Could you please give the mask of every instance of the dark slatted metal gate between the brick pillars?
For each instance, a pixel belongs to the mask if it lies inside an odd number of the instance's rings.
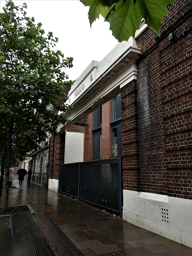
[[[61,164],[59,192],[101,206],[122,218],[122,160]]]

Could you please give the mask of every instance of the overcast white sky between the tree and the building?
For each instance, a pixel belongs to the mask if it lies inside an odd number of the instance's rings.
[[[27,4],[27,16],[41,22],[46,34],[58,37],[58,50],[65,57],[73,57],[73,68],[65,72],[71,80],[82,74],[92,60],[101,61],[118,41],[109,30],[109,23],[101,16],[92,28],[88,20],[88,6],[79,0],[14,0],[15,5]],[[0,0],[0,11],[6,1]]]

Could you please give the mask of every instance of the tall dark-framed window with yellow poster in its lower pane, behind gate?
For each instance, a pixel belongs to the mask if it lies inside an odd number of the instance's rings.
[[[112,99],[112,156],[122,155],[121,94]]]

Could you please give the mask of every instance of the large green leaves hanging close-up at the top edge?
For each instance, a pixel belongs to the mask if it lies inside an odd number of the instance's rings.
[[[128,41],[139,29],[142,18],[160,35],[160,23],[167,15],[166,6],[174,0],[80,0],[90,6],[90,25],[101,14],[110,23],[110,30],[119,42]]]

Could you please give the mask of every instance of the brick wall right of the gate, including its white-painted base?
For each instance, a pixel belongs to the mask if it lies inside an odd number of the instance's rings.
[[[137,80],[122,88],[123,218],[191,247],[191,2],[176,1],[160,37],[136,37]],[[173,33],[173,40],[169,35]]]

